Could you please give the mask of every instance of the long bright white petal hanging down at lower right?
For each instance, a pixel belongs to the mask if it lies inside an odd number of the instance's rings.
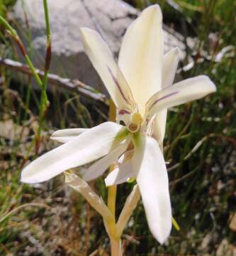
[[[135,144],[133,164],[145,207],[147,223],[154,238],[163,243],[172,229],[167,168],[162,151],[152,137],[142,137]]]

